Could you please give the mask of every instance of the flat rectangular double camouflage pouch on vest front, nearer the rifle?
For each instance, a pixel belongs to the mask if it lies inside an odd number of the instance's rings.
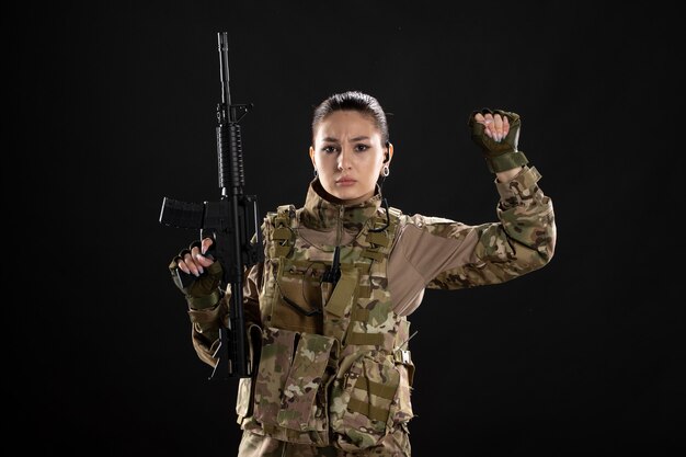
[[[255,379],[254,418],[266,435],[294,443],[328,442],[327,367],[335,339],[267,328]],[[333,352],[333,354],[332,354]]]

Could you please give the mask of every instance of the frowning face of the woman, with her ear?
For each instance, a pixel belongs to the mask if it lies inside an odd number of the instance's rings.
[[[384,167],[386,147],[374,119],[356,111],[335,111],[317,126],[310,159],[322,187],[355,204],[370,198]],[[388,162],[393,155],[388,148]]]

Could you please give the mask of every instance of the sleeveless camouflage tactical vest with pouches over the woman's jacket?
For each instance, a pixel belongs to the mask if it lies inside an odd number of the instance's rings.
[[[262,342],[254,378],[239,386],[243,429],[357,450],[412,419],[410,323],[392,310],[386,275],[400,216],[378,209],[340,248],[335,287],[322,281],[335,247],[298,236],[294,205],[264,219]]]

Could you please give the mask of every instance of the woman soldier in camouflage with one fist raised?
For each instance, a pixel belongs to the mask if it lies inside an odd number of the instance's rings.
[[[496,221],[472,226],[386,204],[393,146],[374,96],[350,91],[317,106],[305,205],[267,214],[265,259],[244,275],[248,333],[260,336],[256,369],[239,385],[239,456],[410,456],[408,317],[424,289],[504,283],[553,255],[552,202],[517,150],[519,124],[502,110],[469,117],[500,194]],[[193,242],[170,270],[196,277],[182,287],[193,345],[215,366],[230,287],[219,288],[211,243]]]

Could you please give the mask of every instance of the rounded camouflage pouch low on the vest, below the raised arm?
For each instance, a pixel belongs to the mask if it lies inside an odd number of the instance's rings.
[[[375,446],[393,430],[400,379],[392,357],[378,351],[364,353],[334,379],[329,412],[341,448]]]

